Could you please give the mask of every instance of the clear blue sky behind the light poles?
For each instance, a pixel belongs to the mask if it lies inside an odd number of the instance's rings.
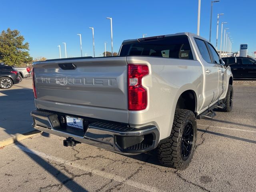
[[[208,39],[211,0],[201,0],[200,36]],[[216,45],[217,14],[234,40],[233,51],[240,44],[248,44],[248,54],[256,51],[255,0],[220,0],[214,3],[212,44]],[[0,31],[17,29],[30,44],[30,54],[36,58],[58,58],[58,45],[64,57],[80,56],[82,34],[83,56],[93,55],[92,30],[94,27],[96,56],[111,51],[110,20],[113,18],[114,51],[118,52],[123,40],[141,38],[142,34],[156,36],[177,32],[197,32],[198,0],[2,0]],[[218,49],[220,48],[220,26]]]

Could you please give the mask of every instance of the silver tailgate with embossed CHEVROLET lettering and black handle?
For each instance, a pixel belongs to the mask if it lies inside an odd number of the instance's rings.
[[[126,57],[54,60],[33,67],[37,108],[128,123]]]

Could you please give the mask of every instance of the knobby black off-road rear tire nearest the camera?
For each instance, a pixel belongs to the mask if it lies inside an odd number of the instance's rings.
[[[190,145],[190,152],[186,157],[182,156],[182,143],[184,141],[184,130],[187,130],[186,126],[192,125],[192,139]],[[178,170],[184,170],[188,167],[192,160],[194,150],[196,148],[196,117],[190,110],[176,109],[174,120],[172,124],[171,135],[161,140],[156,148],[159,162],[167,167],[172,167]]]

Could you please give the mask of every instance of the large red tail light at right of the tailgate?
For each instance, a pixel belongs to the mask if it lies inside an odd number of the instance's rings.
[[[148,75],[147,65],[128,64],[128,109],[144,110],[148,104],[147,90],[142,86],[142,78]]]

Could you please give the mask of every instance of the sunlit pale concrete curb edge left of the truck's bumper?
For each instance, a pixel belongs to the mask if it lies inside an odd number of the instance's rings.
[[[21,140],[27,139],[29,137],[38,135],[40,133],[41,133],[41,131],[34,130],[34,131],[30,131],[30,132],[27,132],[27,133],[24,133],[24,134],[20,134],[20,135],[17,135],[17,136],[8,138],[8,139],[1,140],[0,141],[0,148],[5,147],[5,146],[10,145],[10,144],[13,144],[17,141],[21,141]]]

